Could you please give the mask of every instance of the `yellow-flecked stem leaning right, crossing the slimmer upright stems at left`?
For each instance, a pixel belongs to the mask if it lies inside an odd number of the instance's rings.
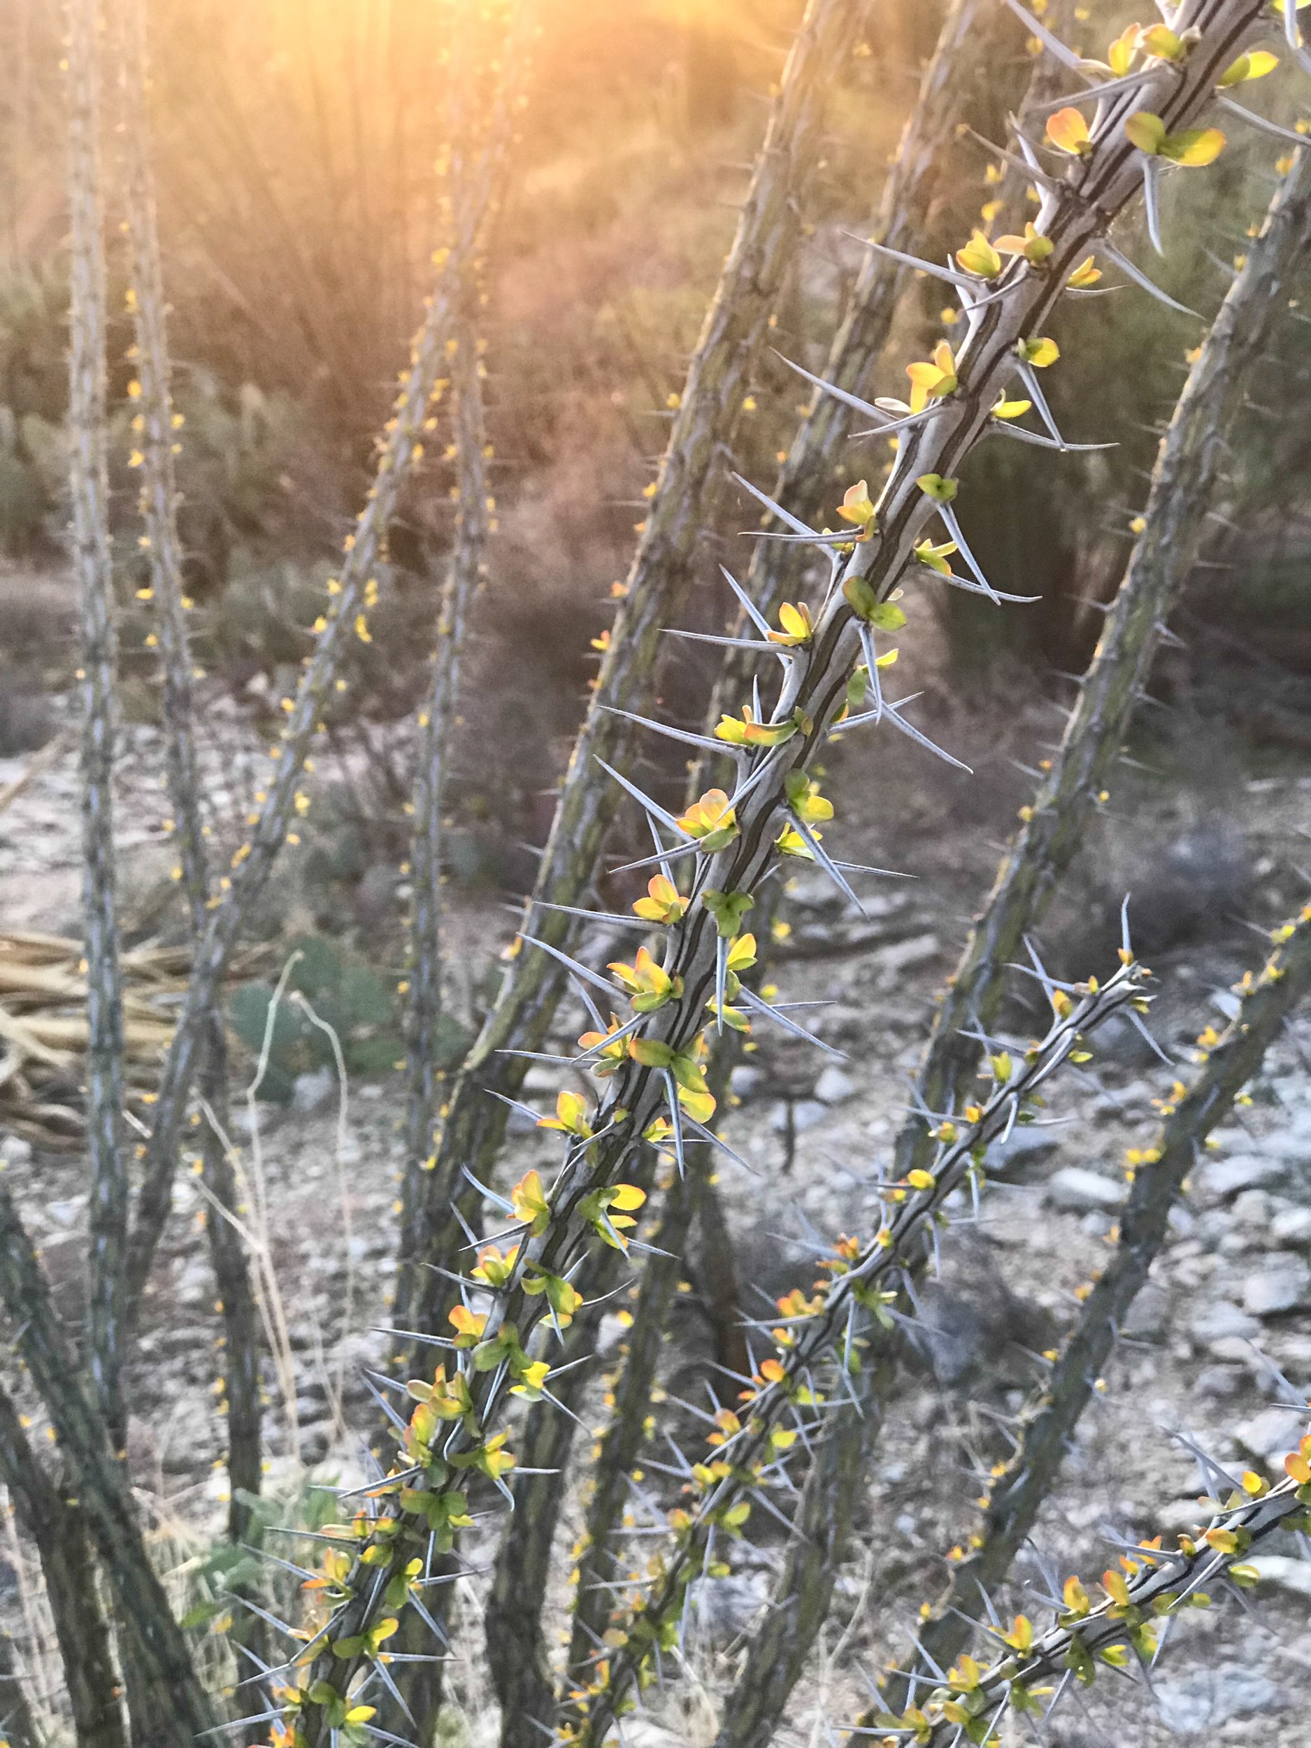
[[[316,643],[294,699],[287,699],[287,724],[276,746],[266,799],[246,843],[232,855],[231,874],[218,881],[220,900],[210,918],[205,947],[187,989],[161,1075],[154,1127],[147,1147],[145,1178],[136,1199],[128,1246],[128,1304],[140,1302],[159,1236],[168,1220],[177,1166],[178,1131],[196,1073],[196,1056],[205,1016],[213,1010],[218,984],[241,932],[248,904],[273,872],[294,822],[306,806],[304,760],[320,732],[320,717],[334,694],[341,656],[350,638],[367,638],[367,608],[378,591],[374,570],[386,559],[386,531],[413,465],[423,456],[432,399],[447,362],[446,341],[463,264],[479,245],[482,218],[498,185],[500,161],[510,133],[512,96],[503,94],[488,126],[486,145],[470,170],[467,201],[449,245],[437,250],[437,283],[427,302],[423,325],[414,337],[409,367],[402,372],[393,414],[378,449],[374,484],[355,530],[344,540],[341,575],[329,582],[325,612],[316,622]]]

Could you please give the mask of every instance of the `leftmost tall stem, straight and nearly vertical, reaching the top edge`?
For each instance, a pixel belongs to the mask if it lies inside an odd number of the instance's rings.
[[[105,456],[105,239],[100,184],[100,5],[68,5],[68,484],[82,598],[82,912],[87,960],[91,1376],[122,1444],[122,972],[114,886],[114,573]]]

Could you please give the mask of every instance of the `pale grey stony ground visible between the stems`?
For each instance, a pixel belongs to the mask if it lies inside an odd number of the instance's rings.
[[[157,745],[152,731],[135,734],[122,766],[128,841],[147,858],[142,867],[154,858],[164,893],[156,926],[168,928]],[[14,773],[21,766],[16,760]],[[0,767],[0,785],[14,773]],[[252,738],[248,766],[227,759],[213,771],[217,811],[236,815],[257,781]],[[933,781],[916,769],[923,818],[914,829],[890,827],[888,816],[905,818],[897,795],[888,808],[881,790],[876,809],[862,767],[846,762],[832,781],[850,830],[844,848],[879,864],[895,855],[921,877],[874,883],[864,918],[811,877],[790,897],[792,933],[774,981],[787,1000],[823,1003],[806,1021],[846,1059],[762,1037],[734,1073],[725,1133],[750,1169],[725,1162],[720,1192],[752,1285],[746,1309],[808,1283],[815,1250],[874,1217],[876,1171],[902,1117],[933,991],[963,939],[963,914],[986,884],[989,839],[1005,834],[1028,785],[1002,753],[982,773],[982,806],[961,808],[947,788],[935,802]],[[75,923],[73,783],[72,757],[56,760],[0,815],[0,909],[10,926]],[[1302,891],[1299,848],[1309,822],[1311,788],[1297,773],[1245,773],[1224,818],[1201,785],[1166,792],[1143,780],[1126,788],[1094,836],[1047,930],[1047,951],[1063,968],[1079,958],[1077,970],[1096,970],[1108,954],[1117,895],[1134,884],[1162,991],[1154,1031],[1173,1065],[1187,1065],[1196,1033],[1232,1012],[1229,986],[1260,960],[1264,928]],[[149,905],[138,921],[149,933]],[[456,898],[453,935],[463,960],[489,961],[509,926],[498,902]],[[614,956],[600,939],[596,956]],[[470,974],[463,988],[475,981]],[[1017,1003],[1003,1024],[1024,1037],[1031,1021]],[[561,1040],[566,1035],[561,1028]],[[867,1699],[867,1680],[909,1647],[919,1601],[940,1589],[947,1550],[972,1528],[974,1475],[1007,1453],[1007,1418],[1035,1388],[1031,1355],[1059,1337],[1077,1311],[1075,1288],[1105,1257],[1124,1154],[1152,1134],[1152,1101],[1176,1072],[1185,1068],[1157,1061],[1127,1028],[1105,1035],[1089,1070],[1059,1082],[1044,1124],[998,1152],[981,1218],[961,1218],[947,1234],[823,1654],[795,1697],[787,1741],[827,1741],[825,1720],[850,1722]],[[558,1086],[558,1077],[533,1072],[528,1098],[545,1108]],[[1061,1577],[1092,1578],[1108,1563],[1106,1530],[1136,1538],[1196,1523],[1206,1488],[1176,1432],[1231,1468],[1274,1472],[1304,1428],[1295,1404],[1311,1390],[1311,1014],[1287,1030],[1250,1091],[1253,1103],[1199,1159],[1171,1243],[1073,1435],[1061,1486],[1005,1599],[1016,1608],[1040,1556]],[[362,1374],[385,1348],[392,1276],[397,1106],[395,1080],[339,1089],[325,1075],[302,1077],[288,1108],[236,1106],[252,1238],[267,1259],[266,1309],[285,1330],[267,1365],[267,1484],[288,1512],[308,1475],[350,1484],[362,1474],[372,1433]],[[526,1119],[516,1119],[510,1141],[510,1178],[554,1157]],[[0,1140],[0,1157],[59,1301],[77,1316],[82,1164],[33,1154],[14,1138]],[[184,1173],[129,1386],[135,1472],[173,1564],[185,1568],[175,1573],[180,1594],[194,1592],[224,1496],[217,1323],[199,1213],[199,1190]],[[669,1341],[680,1393],[697,1388],[710,1349],[696,1262]],[[614,1349],[619,1321],[605,1334]],[[566,1533],[573,1519],[572,1510]],[[631,1748],[713,1738],[713,1696],[732,1676],[781,1557],[764,1528],[753,1526],[753,1535],[734,1575],[699,1598],[704,1631],[689,1678],[650,1696],[647,1715],[628,1727]],[[488,1550],[470,1549],[474,1564],[486,1564]],[[1169,1638],[1154,1694],[1129,1696],[1119,1680],[1115,1689],[1101,1680],[1056,1713],[1045,1739],[1056,1748],[1155,1748],[1189,1736],[1273,1748],[1309,1743],[1306,1552],[1287,1538],[1262,1556],[1266,1582],[1246,1608],[1224,1599],[1211,1613],[1189,1613]],[[42,1615],[30,1556],[10,1550],[0,1568],[5,1582],[9,1626],[28,1636],[31,1668],[52,1682],[49,1655],[31,1640]],[[461,1603],[472,1655],[453,1668],[453,1731],[482,1748],[495,1741],[495,1720],[477,1652],[475,1591],[470,1585]]]

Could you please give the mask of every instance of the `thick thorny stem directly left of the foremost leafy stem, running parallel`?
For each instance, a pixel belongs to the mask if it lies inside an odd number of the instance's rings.
[[[568,907],[582,905],[596,879],[614,813],[614,790],[598,760],[624,767],[631,759],[633,725],[615,711],[642,708],[649,699],[662,629],[676,621],[690,587],[697,544],[724,486],[722,454],[731,451],[769,316],[794,264],[801,210],[823,140],[825,98],[862,16],[862,0],[809,0],[788,54],[538,869],[528,914],[531,930],[551,944],[568,939],[575,921]],[[554,909],[559,905],[566,909]],[[517,1089],[523,1059],[503,1052],[542,1047],[559,988],[559,967],[544,954],[521,954],[507,972],[451,1091],[437,1164],[416,1187],[421,1218],[397,1278],[400,1325],[430,1332],[442,1321],[440,1274],[434,1271],[451,1267],[463,1243],[451,1201],[470,1204],[461,1173],[488,1169],[505,1120],[505,1106],[488,1091]],[[420,1264],[432,1267],[416,1274]]]

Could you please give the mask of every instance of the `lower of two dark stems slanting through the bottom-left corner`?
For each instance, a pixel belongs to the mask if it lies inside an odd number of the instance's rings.
[[[37,1461],[19,1412],[2,1384],[0,1481],[9,1489],[23,1538],[35,1547],[40,1559],[77,1748],[128,1748],[122,1690],[114,1668],[108,1622],[100,1606],[94,1554],[82,1509]],[[12,1659],[12,1647],[9,1657]],[[3,1689],[7,1690],[0,1697],[3,1734],[10,1743],[26,1741],[35,1748],[37,1736],[30,1720],[24,1732],[14,1727],[14,1699],[21,1711],[26,1711],[17,1680],[9,1676]]]

